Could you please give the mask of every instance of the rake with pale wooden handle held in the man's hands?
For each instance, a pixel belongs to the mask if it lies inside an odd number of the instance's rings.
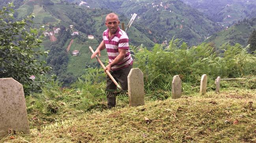
[[[91,46],[89,46],[89,49],[92,51],[92,53],[94,53],[93,49]],[[99,57],[97,55],[95,55],[97,61],[99,62],[99,64],[101,65],[101,67],[103,69],[105,69],[106,67],[104,66],[104,64],[101,62],[101,60],[99,59]],[[105,95],[107,95],[107,97],[111,97],[111,96],[128,96],[127,94],[127,90],[122,90],[121,86],[116,82],[116,80],[114,79],[114,77],[110,74],[110,72],[108,72],[108,70],[106,70],[106,73],[108,74],[108,76],[110,77],[110,79],[112,79],[112,81],[114,82],[114,84],[116,84],[117,90],[109,90],[106,89],[105,90]]]

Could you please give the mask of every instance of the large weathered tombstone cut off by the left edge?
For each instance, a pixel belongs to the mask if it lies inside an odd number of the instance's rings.
[[[29,134],[23,86],[13,78],[0,79],[0,137],[8,130]]]

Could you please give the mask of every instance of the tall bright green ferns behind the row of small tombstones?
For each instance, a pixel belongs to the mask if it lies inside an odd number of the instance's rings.
[[[165,99],[171,92],[172,77],[180,75],[183,92],[198,92],[200,77],[208,76],[208,88],[214,89],[217,76],[243,77],[256,72],[256,57],[247,53],[241,45],[225,45],[216,49],[203,43],[187,49],[180,39],[172,40],[169,46],[156,44],[152,51],[143,46],[134,48],[135,67],[144,73],[146,93],[155,99]]]

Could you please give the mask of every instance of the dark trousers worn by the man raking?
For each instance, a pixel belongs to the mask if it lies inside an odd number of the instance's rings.
[[[114,79],[119,82],[121,85],[122,90],[128,90],[128,83],[127,83],[127,76],[129,75],[130,70],[133,68],[133,65],[129,65],[126,68],[122,68],[116,71],[110,71],[111,75]],[[109,90],[116,90],[116,84],[110,79],[107,75],[107,89]],[[116,106],[116,97],[115,96],[107,96],[108,100],[108,107]]]

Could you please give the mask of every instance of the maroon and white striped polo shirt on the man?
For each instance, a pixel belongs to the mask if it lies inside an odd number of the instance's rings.
[[[112,66],[111,69],[120,70],[133,64],[133,59],[131,58],[129,50],[129,38],[125,31],[118,27],[116,33],[110,38],[108,37],[108,31],[109,30],[107,29],[103,32],[103,40],[108,52],[109,63],[114,61],[114,59],[119,55],[118,49],[126,49],[125,58],[115,66]]]

